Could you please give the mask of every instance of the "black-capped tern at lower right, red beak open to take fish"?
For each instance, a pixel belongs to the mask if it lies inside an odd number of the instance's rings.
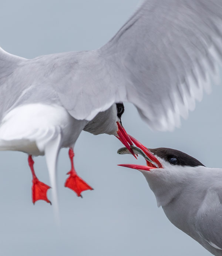
[[[178,229],[213,255],[222,255],[222,169],[208,168],[181,151],[146,148],[132,138],[147,165],[120,164],[141,171],[154,192],[158,207]],[[118,154],[131,154],[121,148]]]

